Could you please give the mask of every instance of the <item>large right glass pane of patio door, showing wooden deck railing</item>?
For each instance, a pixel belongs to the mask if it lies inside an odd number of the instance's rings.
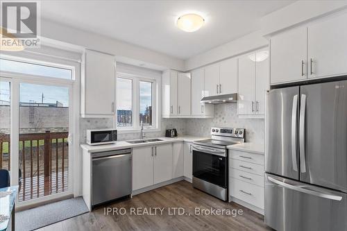
[[[68,191],[69,87],[19,83],[19,202]]]

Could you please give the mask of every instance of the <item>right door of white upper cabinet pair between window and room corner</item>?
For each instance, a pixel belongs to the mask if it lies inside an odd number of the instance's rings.
[[[190,73],[178,73],[178,115],[190,115]]]

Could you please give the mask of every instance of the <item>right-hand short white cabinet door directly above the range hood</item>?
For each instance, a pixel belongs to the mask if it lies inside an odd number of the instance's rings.
[[[237,58],[230,58],[220,64],[219,94],[237,92]]]

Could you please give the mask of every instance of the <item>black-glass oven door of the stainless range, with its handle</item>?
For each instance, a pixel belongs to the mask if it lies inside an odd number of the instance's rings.
[[[193,145],[193,176],[224,189],[228,188],[226,149]]]

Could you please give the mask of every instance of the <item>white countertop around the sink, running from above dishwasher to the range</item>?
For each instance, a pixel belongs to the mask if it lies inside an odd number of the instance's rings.
[[[148,146],[153,144],[167,144],[171,142],[194,142],[199,139],[210,139],[209,137],[193,137],[189,135],[183,135],[178,137],[154,137],[154,138],[146,138],[146,139],[162,139],[159,142],[148,142],[148,143],[140,143],[140,144],[130,144],[126,141],[119,141],[116,144],[105,144],[105,145],[96,145],[90,146],[88,144],[81,144],[81,148],[83,148],[88,153],[99,153],[105,151],[114,151],[124,148],[133,148],[138,146]],[[130,140],[129,140],[130,141]]]

